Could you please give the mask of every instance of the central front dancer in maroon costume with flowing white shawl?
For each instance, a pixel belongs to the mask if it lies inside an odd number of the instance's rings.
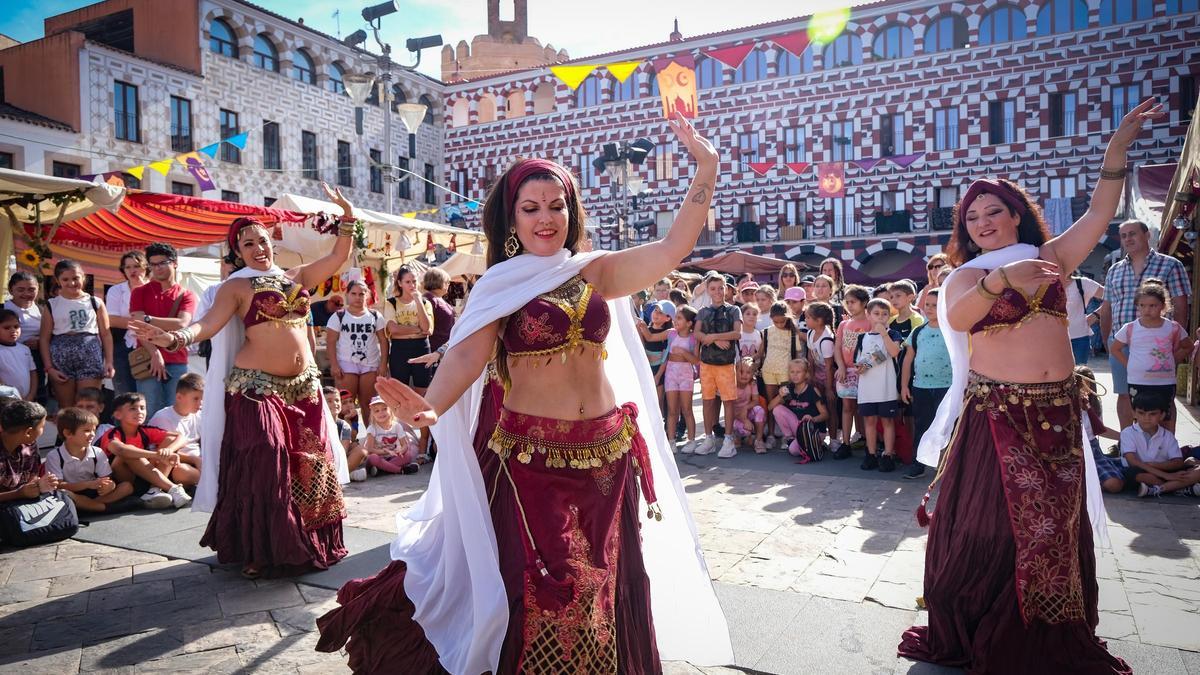
[[[652,244],[580,253],[568,169],[520,160],[499,178],[482,214],[488,269],[427,394],[378,383],[437,440],[430,488],[398,519],[394,562],[317,621],[319,650],[349,640],[358,673],[732,661],[629,306],[695,247],[716,184],[713,145],[670,124],[695,178]]]

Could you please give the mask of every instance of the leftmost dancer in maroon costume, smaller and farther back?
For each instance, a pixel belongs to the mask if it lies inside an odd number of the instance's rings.
[[[204,392],[204,471],[192,508],[212,513],[200,544],[247,578],[325,569],[346,556],[341,485],[349,476],[308,347],[305,288],[349,258],[354,219],[341,190],[323,186],[343,214],[329,255],[284,273],[270,231],[240,217],[227,241],[235,271],[203,318],[170,331],[130,322],[138,338],[168,350],[212,339],[215,386]]]

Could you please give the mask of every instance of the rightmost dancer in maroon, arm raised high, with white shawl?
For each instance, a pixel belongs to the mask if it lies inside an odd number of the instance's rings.
[[[904,634],[900,656],[971,673],[1130,671],[1096,637],[1104,507],[1063,288],[1116,215],[1129,144],[1163,115],[1151,98],[1121,120],[1087,213],[1054,239],[1008,180],[977,180],[954,207],[960,267],[937,303],[954,380],[918,454],[941,480],[932,516],[928,494],[918,510],[929,626]]]

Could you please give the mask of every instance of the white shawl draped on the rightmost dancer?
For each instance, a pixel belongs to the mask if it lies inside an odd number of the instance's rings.
[[[942,288],[950,283],[950,279],[961,269],[985,269],[992,270],[997,267],[1027,261],[1038,257],[1038,247],[1032,244],[1013,244],[1003,249],[986,252],[967,262],[962,267],[955,268]],[[946,338],[946,351],[950,356],[950,366],[954,369],[954,378],[950,382],[946,398],[937,406],[937,417],[920,438],[920,447],[917,449],[917,459],[925,466],[935,470],[944,448],[950,444],[954,428],[962,413],[962,398],[967,390],[967,372],[971,370],[971,345],[966,331],[950,328],[949,310],[947,309],[946,294],[937,295],[937,321],[942,327],[942,335]],[[1063,334],[1066,339],[1066,333]],[[1082,425],[1080,425],[1082,430]],[[1094,543],[1106,546],[1109,543],[1109,530],[1105,522],[1104,497],[1100,494],[1100,478],[1096,473],[1096,459],[1092,456],[1091,446],[1085,436],[1080,447],[1084,449],[1084,483],[1087,485],[1087,514],[1092,521],[1092,538]]]

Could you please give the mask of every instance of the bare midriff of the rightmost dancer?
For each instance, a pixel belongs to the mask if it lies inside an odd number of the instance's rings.
[[[1060,317],[1037,315],[1014,328],[971,335],[971,370],[1001,382],[1058,382],[1074,364]]]

